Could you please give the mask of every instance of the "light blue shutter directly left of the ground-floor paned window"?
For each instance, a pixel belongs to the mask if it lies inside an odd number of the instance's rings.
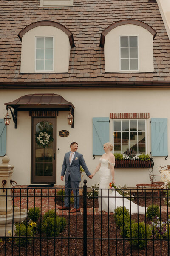
[[[103,144],[109,142],[109,118],[93,118],[93,154],[101,156],[104,154]]]

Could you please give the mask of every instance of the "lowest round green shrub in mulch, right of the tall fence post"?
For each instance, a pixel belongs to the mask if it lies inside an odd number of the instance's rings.
[[[139,229],[139,231],[138,231],[138,229]],[[139,224],[132,223],[132,232],[131,233],[132,233],[132,236],[131,236],[132,245],[135,247],[139,246],[139,248],[142,249],[147,244],[146,239],[152,235],[152,229],[151,229],[150,225],[146,224],[146,230],[145,230],[144,222],[139,222]],[[139,234],[139,236],[138,236],[138,234]],[[130,238],[130,230],[127,233],[127,238]],[[137,239],[134,239],[134,238],[137,238]]]

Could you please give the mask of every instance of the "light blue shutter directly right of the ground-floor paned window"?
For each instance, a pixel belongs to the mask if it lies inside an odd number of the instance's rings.
[[[151,145],[153,157],[165,157],[167,150],[167,118],[151,118]]]

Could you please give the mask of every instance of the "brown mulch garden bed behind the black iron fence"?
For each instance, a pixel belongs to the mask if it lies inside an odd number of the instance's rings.
[[[147,193],[147,196],[150,194]],[[159,198],[157,193],[154,193],[154,204],[159,205]],[[139,202],[139,205],[144,206],[145,200],[142,198],[142,193],[139,193],[139,199],[135,198],[133,202]],[[98,207],[98,199],[88,199],[88,207]],[[57,202],[59,204],[59,201]],[[62,202],[60,201],[62,204]],[[80,205],[82,207],[82,198],[80,198]],[[146,205],[152,203],[152,198],[146,198]],[[161,205],[165,205],[161,198]],[[65,217],[68,225],[62,234],[59,234],[57,238],[35,238],[34,242],[19,248],[16,244],[12,244],[12,241],[6,239],[0,243],[0,256],[83,256],[83,216],[69,216]],[[161,218],[165,221],[167,219],[167,213],[162,213]],[[132,219],[137,221],[144,221],[144,215],[132,215]],[[146,219],[147,223],[150,223]],[[42,236],[45,236],[42,234]],[[77,236],[77,239],[76,239]],[[147,247],[144,249],[134,248],[130,246],[130,242],[126,239],[122,239],[120,235],[119,227],[116,227],[113,215],[96,215],[87,216],[87,255],[88,256],[168,256],[168,242],[167,241],[152,241],[147,243]],[[102,237],[102,239],[101,239]],[[110,240],[108,240],[108,237]],[[117,237],[117,239],[116,239]],[[70,239],[68,239],[70,238]],[[12,254],[13,247],[13,254]],[[153,251],[154,250],[154,251]]]

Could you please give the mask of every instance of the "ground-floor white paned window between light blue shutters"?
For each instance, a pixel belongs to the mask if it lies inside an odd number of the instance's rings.
[[[136,154],[146,154],[146,120],[113,120],[114,153],[125,154],[132,150]]]

